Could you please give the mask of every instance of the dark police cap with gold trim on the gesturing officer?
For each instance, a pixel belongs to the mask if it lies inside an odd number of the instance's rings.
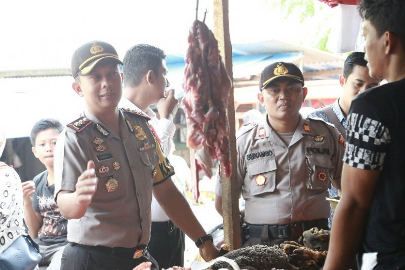
[[[72,56],[72,76],[87,75],[103,59],[112,59],[123,64],[111,44],[103,41],[92,41],[77,48]]]

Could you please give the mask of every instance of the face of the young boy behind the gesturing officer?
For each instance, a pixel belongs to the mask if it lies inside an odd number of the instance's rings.
[[[32,147],[32,152],[47,169],[53,169],[54,167],[54,149],[58,136],[59,131],[53,128],[39,131],[36,134],[35,146]]]

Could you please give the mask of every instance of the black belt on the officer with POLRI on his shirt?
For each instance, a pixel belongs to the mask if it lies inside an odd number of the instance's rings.
[[[268,230],[268,237],[273,239],[283,239],[290,238],[295,239],[302,236],[305,230],[311,229],[313,227],[329,229],[328,219],[314,219],[309,221],[295,222],[291,224],[284,225],[269,225],[269,224],[249,224],[247,226],[247,235],[250,237],[261,238],[263,236],[263,229]],[[265,232],[267,233],[267,232]]]

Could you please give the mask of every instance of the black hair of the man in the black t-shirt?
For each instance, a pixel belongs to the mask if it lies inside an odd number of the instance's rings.
[[[394,33],[405,50],[404,0],[360,0],[357,9],[360,16],[376,28],[378,36],[386,31]]]

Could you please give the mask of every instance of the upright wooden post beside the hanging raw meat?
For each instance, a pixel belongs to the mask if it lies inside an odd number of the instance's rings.
[[[218,47],[226,70],[233,81],[232,72],[232,45],[229,35],[229,8],[228,0],[214,0],[214,35],[218,40]],[[235,108],[233,100],[233,87],[229,93],[228,103],[229,121],[229,147],[232,162],[232,175],[225,178],[224,168],[221,166],[222,176],[222,216],[224,219],[225,243],[231,250],[240,248],[240,221],[239,221],[239,191],[237,188],[236,173],[236,138],[235,138]]]

